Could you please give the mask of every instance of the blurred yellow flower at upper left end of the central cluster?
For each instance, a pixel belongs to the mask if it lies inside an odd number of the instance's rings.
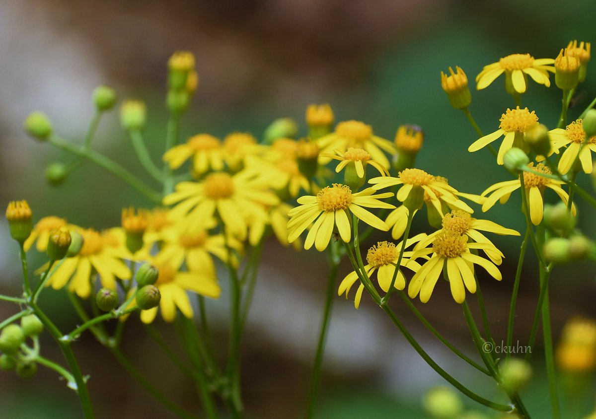
[[[178,169],[193,157],[193,169],[199,175],[209,170],[224,169],[224,150],[219,139],[209,134],[191,136],[186,144],[176,145],[166,151],[163,161],[170,169]]]

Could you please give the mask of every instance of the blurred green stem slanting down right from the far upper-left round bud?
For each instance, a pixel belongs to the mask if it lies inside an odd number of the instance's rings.
[[[162,195],[148,187],[144,182],[136,178],[136,176],[131,172],[118,165],[116,162],[113,162],[113,160],[108,159],[103,154],[97,153],[97,151],[94,150],[85,150],[85,148],[77,147],[66,139],[60,138],[56,135],[52,135],[48,139],[48,142],[49,144],[54,145],[54,147],[60,148],[61,150],[67,151],[68,153],[75,154],[75,156],[91,160],[96,165],[103,167],[108,172],[131,185],[140,193],[150,198],[150,200],[154,201],[154,203],[159,204],[162,202]]]

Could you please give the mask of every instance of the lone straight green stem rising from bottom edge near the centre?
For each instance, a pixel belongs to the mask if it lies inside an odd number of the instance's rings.
[[[333,247],[336,247],[335,243],[331,243],[330,252],[334,252]],[[325,342],[327,342],[327,333],[329,331],[331,311],[333,309],[333,294],[336,289],[335,283],[337,280],[337,270],[339,269],[340,258],[330,257],[330,260],[331,266],[327,277],[327,293],[325,294],[325,306],[321,318],[321,325],[319,327],[319,339],[316,344],[315,362],[311,374],[311,389],[308,396],[306,418],[312,418],[315,412],[316,398],[321,384],[321,368],[323,365],[323,356],[325,355]]]

